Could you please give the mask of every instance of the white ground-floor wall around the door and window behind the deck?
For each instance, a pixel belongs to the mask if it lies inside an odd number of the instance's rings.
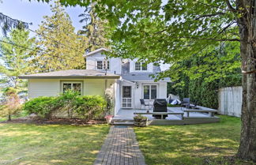
[[[156,84],[157,85],[157,99],[166,99],[167,98],[167,82],[136,82],[128,83],[126,81],[122,81],[122,84],[120,85],[120,107],[122,107],[122,86],[131,86],[132,87],[132,103],[133,103],[133,109],[141,109],[141,102],[140,99],[143,99],[143,85],[145,84]],[[145,99],[145,103],[153,103],[154,99]],[[142,107],[144,108],[144,107]]]

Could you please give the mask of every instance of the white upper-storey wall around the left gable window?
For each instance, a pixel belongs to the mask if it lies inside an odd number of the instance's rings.
[[[97,61],[104,61],[106,55],[102,54],[102,52],[98,52],[96,54],[89,55],[86,57],[86,69],[97,69]],[[109,58],[109,70],[107,73],[116,73],[121,74],[121,58]]]

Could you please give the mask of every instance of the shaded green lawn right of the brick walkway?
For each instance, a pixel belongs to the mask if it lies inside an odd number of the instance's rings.
[[[239,147],[240,118],[220,118],[213,124],[135,128],[146,163],[245,164],[230,160]]]

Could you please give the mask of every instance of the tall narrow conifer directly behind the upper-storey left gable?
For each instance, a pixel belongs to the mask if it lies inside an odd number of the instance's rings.
[[[78,33],[85,35],[88,38],[87,52],[95,51],[101,47],[107,47],[107,21],[101,20],[97,17],[94,5],[85,9],[84,13],[81,13],[78,17],[82,17],[80,23],[85,23]]]

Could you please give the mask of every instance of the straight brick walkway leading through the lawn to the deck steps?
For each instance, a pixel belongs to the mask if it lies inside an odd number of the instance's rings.
[[[127,126],[111,126],[107,139],[96,157],[94,165],[145,165],[138,147],[134,129]]]

